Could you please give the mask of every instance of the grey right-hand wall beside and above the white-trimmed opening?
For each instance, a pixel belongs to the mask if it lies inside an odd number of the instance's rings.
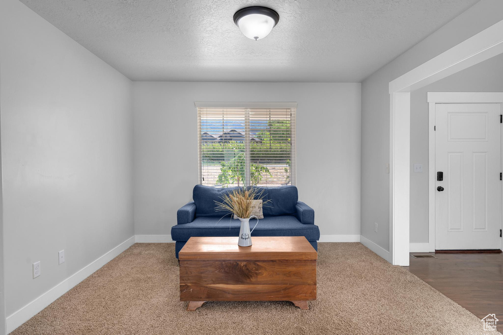
[[[362,83],[361,232],[378,246],[389,250],[389,82],[501,20],[503,1],[482,0]]]

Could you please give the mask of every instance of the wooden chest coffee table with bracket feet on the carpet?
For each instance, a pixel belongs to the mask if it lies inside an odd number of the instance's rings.
[[[316,300],[316,250],[305,237],[191,237],[179,253],[180,301]]]

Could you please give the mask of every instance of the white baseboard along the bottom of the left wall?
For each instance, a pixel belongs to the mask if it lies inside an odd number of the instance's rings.
[[[113,260],[115,257],[119,256],[127,248],[131,247],[135,243],[135,237],[132,236],[126,241],[119,244],[114,249],[107,252],[105,255],[99,257],[97,260],[93,261],[91,264],[77,271],[70,277],[63,280],[61,283],[57,284],[47,292],[43,293],[41,296],[28,303],[26,306],[15,311],[9,315],[6,319],[7,333],[10,333],[24,322],[28,321],[31,317],[36,315],[42,309],[47,307],[49,304],[54,302],[57,298],[65,294],[75,285],[80,283],[82,280],[86,279],[102,266]]]

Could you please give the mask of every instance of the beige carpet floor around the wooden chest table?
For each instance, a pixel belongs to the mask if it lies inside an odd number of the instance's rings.
[[[487,334],[482,321],[359,243],[320,243],[318,298],[179,301],[174,244],[135,244],[13,334]],[[495,333],[495,332],[491,332]]]

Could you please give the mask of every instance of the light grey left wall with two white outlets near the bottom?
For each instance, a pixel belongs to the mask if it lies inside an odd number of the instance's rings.
[[[19,1],[1,4],[10,315],[134,235],[132,113],[129,79]]]

